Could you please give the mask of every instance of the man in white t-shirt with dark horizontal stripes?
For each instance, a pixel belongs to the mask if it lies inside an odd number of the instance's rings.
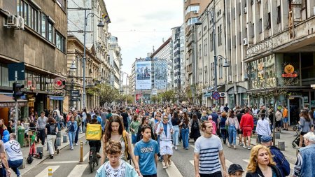
[[[221,166],[223,176],[228,177],[222,142],[218,136],[212,134],[212,129],[211,122],[204,121],[202,123],[204,135],[195,142],[195,177],[221,177]]]

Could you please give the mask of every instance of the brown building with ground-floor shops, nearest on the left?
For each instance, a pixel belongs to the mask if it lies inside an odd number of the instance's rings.
[[[22,99],[27,104],[21,103],[20,118],[55,106],[63,109],[66,18],[65,0],[0,1],[0,94],[9,96],[4,101],[12,100],[14,81],[9,80],[8,64],[24,62],[25,79],[18,79],[18,83],[25,85]],[[0,106],[0,117],[6,125],[13,107],[8,102]]]

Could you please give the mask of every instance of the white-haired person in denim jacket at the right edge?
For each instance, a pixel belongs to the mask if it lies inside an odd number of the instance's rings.
[[[297,155],[294,166],[293,177],[315,176],[315,134],[308,132],[303,137],[306,147],[300,148],[300,153]]]

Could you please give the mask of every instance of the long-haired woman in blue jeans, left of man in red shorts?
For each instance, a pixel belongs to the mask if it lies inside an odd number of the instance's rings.
[[[228,147],[232,147],[236,149],[236,135],[237,135],[237,129],[239,129],[239,121],[237,120],[237,117],[234,114],[234,111],[231,110],[228,116],[228,119],[225,122],[225,125],[228,125],[228,131],[229,131],[229,144]]]

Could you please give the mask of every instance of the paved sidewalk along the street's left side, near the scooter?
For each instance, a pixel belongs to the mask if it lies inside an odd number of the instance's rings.
[[[63,148],[66,148],[66,146],[69,145],[69,137],[67,136],[66,139],[67,139],[67,142],[66,143],[62,143],[62,137],[64,134],[66,134],[66,129],[62,129],[60,132],[61,133],[61,146],[58,146],[59,150],[62,150]],[[84,137],[85,134],[78,134],[78,143],[80,142],[80,139],[82,137]],[[41,145],[38,145],[36,147],[40,147]],[[80,144],[78,145],[80,146]],[[34,157],[34,160],[31,164],[27,164],[27,157],[29,156],[29,147],[26,146],[26,147],[22,147],[21,148],[22,150],[22,153],[23,153],[23,157],[24,157],[24,164],[25,164],[25,168],[24,169],[20,169],[20,173],[21,175],[23,176],[23,174],[27,173],[27,171],[33,169],[34,167],[36,167],[36,165],[40,164],[41,162],[43,162],[44,160],[48,159],[49,158],[49,153],[48,153],[48,150],[47,150],[47,143],[45,141],[45,147],[43,148],[43,158],[42,159],[38,159],[36,157]]]

